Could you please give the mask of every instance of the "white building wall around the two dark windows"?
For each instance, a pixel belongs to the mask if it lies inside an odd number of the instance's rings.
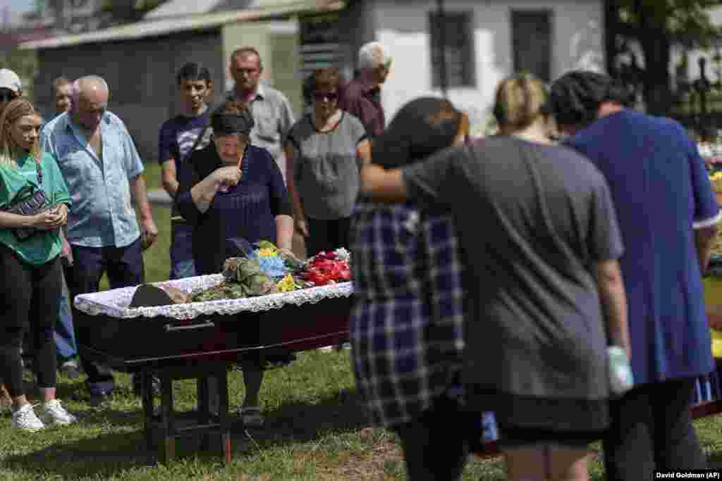
[[[498,81],[513,74],[511,12],[516,9],[552,11],[552,78],[575,68],[604,68],[604,28],[601,0],[445,0],[445,9],[474,12],[476,87],[449,89],[449,100],[469,113],[480,133],[490,112]],[[383,87],[389,120],[409,100],[440,95],[432,89],[430,35],[427,15],[435,1],[375,1],[375,37],[393,56],[391,74]]]

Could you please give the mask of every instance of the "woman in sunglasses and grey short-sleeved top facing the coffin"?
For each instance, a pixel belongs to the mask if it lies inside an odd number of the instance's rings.
[[[288,134],[288,190],[297,231],[310,257],[349,245],[360,168],[370,144],[360,120],[339,109],[338,69],[313,74],[313,110]]]

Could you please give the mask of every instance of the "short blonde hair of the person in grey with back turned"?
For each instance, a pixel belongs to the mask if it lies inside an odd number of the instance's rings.
[[[529,127],[547,114],[547,91],[544,83],[524,74],[500,81],[497,87],[494,116],[503,130],[516,131]]]

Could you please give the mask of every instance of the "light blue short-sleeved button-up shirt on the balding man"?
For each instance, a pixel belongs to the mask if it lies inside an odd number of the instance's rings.
[[[103,114],[100,134],[102,159],[63,113],[45,124],[40,144],[58,160],[71,195],[68,241],[84,247],[124,247],[140,236],[129,180],[143,172],[143,163],[116,115]]]

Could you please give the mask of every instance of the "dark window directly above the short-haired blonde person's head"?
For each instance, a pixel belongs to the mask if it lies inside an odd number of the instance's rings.
[[[513,10],[511,39],[514,71],[551,81],[552,13],[548,10]]]

